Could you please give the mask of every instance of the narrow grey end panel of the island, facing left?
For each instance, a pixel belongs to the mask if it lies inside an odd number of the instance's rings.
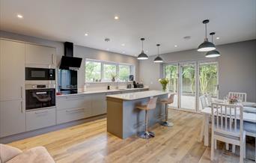
[[[123,101],[107,97],[107,132],[123,138]]]

